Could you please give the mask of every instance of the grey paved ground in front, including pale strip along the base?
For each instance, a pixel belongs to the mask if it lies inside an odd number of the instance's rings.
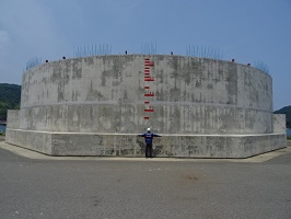
[[[51,158],[0,141],[0,218],[291,218],[291,147],[249,159]]]

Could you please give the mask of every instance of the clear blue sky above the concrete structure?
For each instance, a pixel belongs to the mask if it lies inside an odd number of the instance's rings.
[[[291,0],[0,0],[0,83],[21,84],[35,57],[58,60],[92,45],[140,54],[151,43],[161,55],[191,45],[261,62],[273,110],[291,105]]]

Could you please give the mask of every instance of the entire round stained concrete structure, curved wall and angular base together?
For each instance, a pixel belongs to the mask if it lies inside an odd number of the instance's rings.
[[[147,127],[158,157],[246,158],[286,147],[272,115],[269,74],[184,56],[98,56],[34,67],[7,142],[51,155],[143,155]]]

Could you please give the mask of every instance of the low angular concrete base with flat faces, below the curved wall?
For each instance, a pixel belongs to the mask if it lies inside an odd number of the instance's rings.
[[[77,134],[7,129],[5,141],[49,155],[143,157],[144,139],[131,134]],[[163,135],[155,157],[248,158],[287,147],[286,134]]]

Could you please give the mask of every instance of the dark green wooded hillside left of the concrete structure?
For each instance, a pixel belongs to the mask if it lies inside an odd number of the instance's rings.
[[[7,120],[7,110],[20,107],[21,85],[0,83],[0,120]]]

